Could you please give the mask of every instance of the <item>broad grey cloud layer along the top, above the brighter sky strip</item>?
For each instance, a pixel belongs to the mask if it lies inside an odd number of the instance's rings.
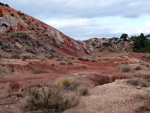
[[[149,0],[1,0],[39,19],[95,18],[120,16],[135,18],[150,14]]]

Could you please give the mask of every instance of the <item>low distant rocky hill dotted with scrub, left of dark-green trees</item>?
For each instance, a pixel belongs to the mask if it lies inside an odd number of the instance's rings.
[[[83,47],[88,53],[97,52],[131,52],[133,41],[128,39],[124,41],[120,38],[93,38],[82,41]]]

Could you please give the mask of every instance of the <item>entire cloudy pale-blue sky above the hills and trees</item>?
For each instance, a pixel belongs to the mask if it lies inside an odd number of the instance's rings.
[[[150,0],[0,0],[76,40],[150,33]]]

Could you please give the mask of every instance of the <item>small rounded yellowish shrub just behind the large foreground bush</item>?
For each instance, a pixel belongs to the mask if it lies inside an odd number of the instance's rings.
[[[56,80],[55,83],[58,87],[62,87],[62,88],[68,87],[71,84],[67,78],[59,78]]]

